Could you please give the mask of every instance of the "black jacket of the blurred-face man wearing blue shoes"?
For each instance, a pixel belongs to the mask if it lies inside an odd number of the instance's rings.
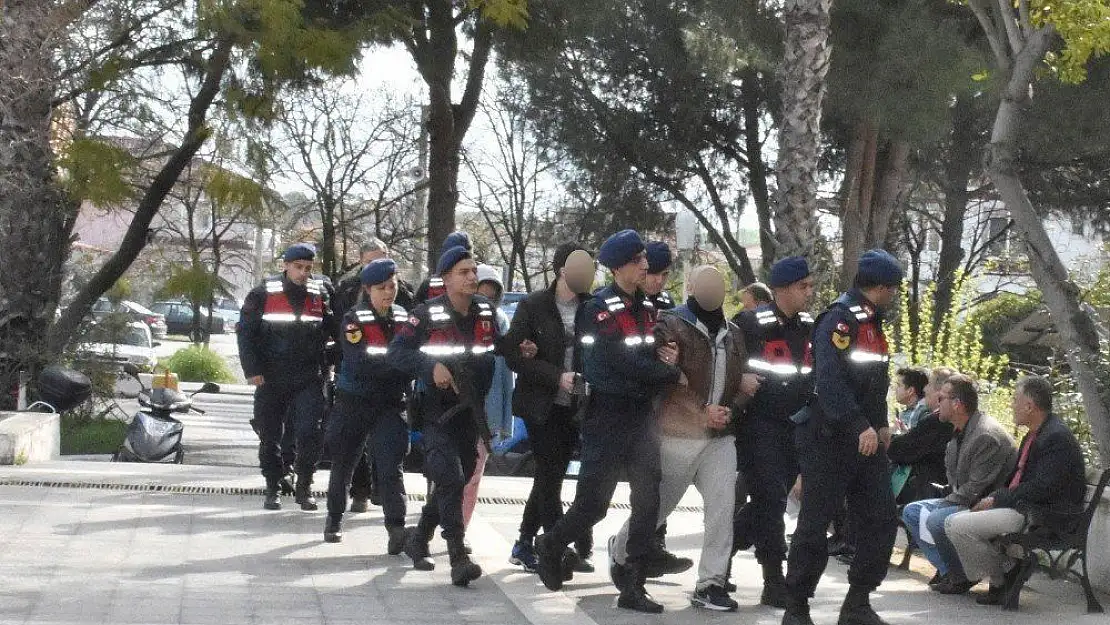
[[[531,423],[544,423],[551,414],[558,394],[559,379],[564,371],[566,349],[574,349],[574,367],[582,369],[582,353],[577,345],[567,345],[563,317],[555,303],[555,284],[529,293],[516,305],[513,323],[501,341],[505,363],[516,372],[513,389],[513,413]],[[589,299],[579,295],[578,304]],[[577,334],[577,332],[576,332]],[[536,344],[535,357],[521,355],[521,342]]]

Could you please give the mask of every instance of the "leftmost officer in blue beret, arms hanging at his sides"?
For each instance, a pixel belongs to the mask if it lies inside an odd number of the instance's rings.
[[[323,370],[334,324],[324,284],[312,276],[315,255],[306,243],[285,250],[285,270],[246,295],[239,319],[239,357],[248,382],[255,386],[254,423],[266,510],[281,510],[286,413],[296,447],[294,497],[301,510],[316,510],[312,477],[320,458],[326,409]]]

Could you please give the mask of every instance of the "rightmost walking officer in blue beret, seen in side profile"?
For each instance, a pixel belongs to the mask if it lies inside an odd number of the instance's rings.
[[[826,530],[847,496],[849,523],[860,536],[848,569],[840,625],[882,625],[870,594],[887,574],[898,516],[885,442],[890,355],[882,311],[898,295],[902,270],[882,250],[859,259],[855,288],[817,320],[814,331],[816,396],[799,413],[801,512],[786,575],[784,625],[810,625],[808,601],[828,563]]]

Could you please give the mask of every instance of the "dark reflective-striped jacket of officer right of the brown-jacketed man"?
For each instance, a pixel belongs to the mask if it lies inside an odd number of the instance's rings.
[[[747,371],[764,377],[747,406],[748,419],[790,419],[814,394],[814,317],[807,312],[787,317],[767,304],[735,319],[744,333]]]

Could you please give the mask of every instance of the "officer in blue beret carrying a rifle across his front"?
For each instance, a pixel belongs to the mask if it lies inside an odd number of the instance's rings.
[[[424,474],[433,483],[415,527],[405,531],[404,552],[418,571],[435,568],[427,544],[443,527],[451,582],[465,586],[482,575],[466,553],[463,487],[474,474],[477,445],[490,443],[485,399],[500,339],[496,310],[477,295],[477,264],[462,245],[440,256],[436,274],[446,293],[416,306],[396,330],[389,362],[422,381]]]

